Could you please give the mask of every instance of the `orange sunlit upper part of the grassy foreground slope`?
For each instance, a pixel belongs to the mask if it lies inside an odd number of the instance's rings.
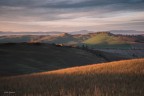
[[[107,74],[143,74],[144,59],[122,60],[109,63],[86,65],[81,67],[66,68],[40,74],[86,74],[86,73],[107,73]]]

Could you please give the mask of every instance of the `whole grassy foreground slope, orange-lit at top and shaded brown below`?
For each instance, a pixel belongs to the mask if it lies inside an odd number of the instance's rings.
[[[0,79],[0,96],[143,96],[144,59]]]

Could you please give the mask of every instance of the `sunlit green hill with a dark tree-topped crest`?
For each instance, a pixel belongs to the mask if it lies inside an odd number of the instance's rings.
[[[88,40],[85,40],[85,44],[108,44],[108,45],[113,45],[113,44],[129,44],[135,42],[134,38],[128,38],[126,36],[117,36],[113,35],[111,33],[98,33],[92,38],[89,38]]]

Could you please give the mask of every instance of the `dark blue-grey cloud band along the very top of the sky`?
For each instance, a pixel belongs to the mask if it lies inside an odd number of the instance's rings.
[[[127,5],[144,8],[144,0],[1,0],[0,6],[44,7],[44,8],[86,8],[108,5]],[[132,8],[132,7],[131,7]]]

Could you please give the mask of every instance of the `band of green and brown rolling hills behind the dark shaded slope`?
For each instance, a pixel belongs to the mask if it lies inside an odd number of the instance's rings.
[[[116,35],[110,32],[96,32],[88,34],[61,33],[59,35],[13,35],[1,36],[0,43],[41,42],[65,45],[82,46],[83,44],[93,48],[137,48],[144,45],[143,35]],[[140,47],[142,48],[142,47]]]

